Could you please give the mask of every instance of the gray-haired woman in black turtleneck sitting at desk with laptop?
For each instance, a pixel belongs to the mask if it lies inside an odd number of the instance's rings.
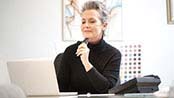
[[[84,4],[81,31],[87,43],[66,48],[57,76],[61,92],[108,93],[119,81],[121,53],[103,40],[106,12],[99,1]]]

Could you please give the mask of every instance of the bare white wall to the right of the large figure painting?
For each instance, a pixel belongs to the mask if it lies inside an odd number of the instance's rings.
[[[174,80],[174,25],[167,25],[166,0],[125,0],[125,40],[143,43],[143,74],[159,75],[161,86]]]

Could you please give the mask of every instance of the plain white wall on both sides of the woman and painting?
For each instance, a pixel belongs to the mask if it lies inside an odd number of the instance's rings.
[[[174,25],[166,22],[166,0],[123,2],[124,41],[142,42],[143,74],[159,75],[161,86],[170,85]],[[61,16],[61,0],[0,0],[0,57],[54,58],[63,52],[72,42],[62,41]]]

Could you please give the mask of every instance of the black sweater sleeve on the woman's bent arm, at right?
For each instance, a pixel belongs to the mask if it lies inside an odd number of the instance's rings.
[[[94,67],[89,72],[87,72],[87,76],[96,91],[99,93],[108,93],[108,89],[112,88],[119,80],[121,53],[116,51],[115,54],[110,56],[103,56],[103,58],[100,58],[100,60],[101,62],[102,60],[106,62],[105,68],[103,68],[103,72],[100,73]]]

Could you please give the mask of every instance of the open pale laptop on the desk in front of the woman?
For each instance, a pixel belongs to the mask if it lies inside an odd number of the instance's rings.
[[[7,62],[11,82],[20,86],[27,96],[77,95],[77,92],[59,92],[53,61],[50,59],[23,59]]]

